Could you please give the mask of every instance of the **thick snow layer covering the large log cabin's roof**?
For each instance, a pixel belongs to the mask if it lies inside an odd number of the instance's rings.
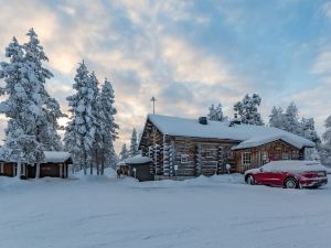
[[[194,138],[215,138],[244,141],[234,149],[257,147],[281,139],[299,149],[302,147],[314,147],[314,143],[302,137],[292,134],[278,128],[235,125],[229,127],[228,121],[207,121],[201,125],[196,119],[149,115],[148,119],[164,134],[183,136]],[[242,147],[241,147],[242,145]]]

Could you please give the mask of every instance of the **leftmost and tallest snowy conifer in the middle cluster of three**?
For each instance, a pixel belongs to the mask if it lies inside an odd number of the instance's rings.
[[[90,76],[84,61],[79,64],[74,80],[73,88],[76,93],[66,98],[71,117],[64,141],[66,148],[73,153],[75,162],[84,169],[86,175],[95,144],[95,117],[90,103],[95,93],[90,88]]]

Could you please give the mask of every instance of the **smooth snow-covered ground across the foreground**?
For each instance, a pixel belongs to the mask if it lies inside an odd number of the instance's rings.
[[[331,186],[249,186],[241,175],[146,182],[0,177],[2,248],[328,248]]]

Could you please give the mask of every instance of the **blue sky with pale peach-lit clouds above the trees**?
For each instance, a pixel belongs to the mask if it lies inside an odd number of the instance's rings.
[[[151,112],[199,117],[257,93],[265,121],[295,101],[319,133],[331,115],[331,2],[320,0],[0,0],[0,61],[12,36],[34,28],[64,111],[85,60],[116,91],[120,140]],[[6,126],[1,117],[1,130]],[[2,132],[2,131],[1,131]]]

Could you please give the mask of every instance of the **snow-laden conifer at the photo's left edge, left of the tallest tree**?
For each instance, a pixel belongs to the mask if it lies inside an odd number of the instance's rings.
[[[6,129],[4,144],[1,147],[1,157],[18,164],[17,176],[21,176],[21,162],[40,163],[44,159],[43,147],[36,140],[36,116],[31,112],[31,84],[26,78],[29,67],[25,63],[23,47],[13,37],[6,48],[9,63],[0,64],[0,78],[6,85],[0,88],[1,95],[8,98],[0,104],[0,112],[9,118]]]

